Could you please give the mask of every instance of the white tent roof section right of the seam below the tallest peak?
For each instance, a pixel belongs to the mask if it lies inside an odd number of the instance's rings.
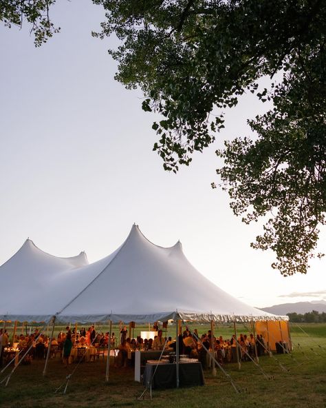
[[[110,262],[72,300],[58,318],[64,321],[284,320],[230,296],[200,274],[182,245],[160,247],[133,225]],[[287,317],[287,316],[285,316]]]

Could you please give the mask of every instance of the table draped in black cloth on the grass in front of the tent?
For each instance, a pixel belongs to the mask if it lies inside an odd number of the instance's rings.
[[[198,385],[204,385],[205,380],[202,364],[198,362],[180,363],[179,380],[180,387],[196,387]],[[150,386],[152,388],[174,388],[176,387],[176,384],[177,365],[175,363],[160,363],[158,365],[155,363],[146,364],[144,371],[144,386],[146,388],[149,388]]]

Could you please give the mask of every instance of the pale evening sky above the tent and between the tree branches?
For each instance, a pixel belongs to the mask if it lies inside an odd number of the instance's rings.
[[[246,96],[215,145],[179,174],[164,172],[152,151],[155,116],[142,111],[140,91],[113,79],[114,40],[91,37],[103,16],[90,0],[58,1],[52,19],[61,33],[41,48],[28,26],[0,27],[0,264],[28,237],[50,254],[85,250],[94,262],[137,223],[157,245],[180,239],[199,272],[250,305],[326,299],[325,259],[306,276],[283,278],[271,252],[250,248],[261,225],[241,223],[228,195],[210,187],[215,150],[250,134],[246,119],[267,107]],[[320,250],[325,243],[323,231]]]

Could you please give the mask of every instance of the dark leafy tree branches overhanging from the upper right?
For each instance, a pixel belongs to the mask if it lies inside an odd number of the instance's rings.
[[[273,249],[281,274],[306,273],[326,210],[325,1],[93,1],[106,15],[94,35],[120,39],[109,50],[116,79],[140,87],[142,108],[162,115],[154,150],[166,170],[213,143],[244,92],[273,102],[249,121],[254,138],[217,152],[217,173],[244,222],[268,217],[252,246]],[[260,90],[257,81],[276,73],[281,81]]]

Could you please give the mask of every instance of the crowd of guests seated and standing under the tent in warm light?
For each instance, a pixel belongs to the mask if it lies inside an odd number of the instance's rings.
[[[69,356],[72,352],[72,347],[89,347],[96,345],[96,347],[107,348],[110,342],[111,348],[118,348],[118,359],[116,365],[120,367],[127,366],[128,351],[135,351],[136,349],[146,350],[163,350],[169,349],[170,351],[176,351],[176,341],[171,337],[166,338],[163,336],[162,330],[158,325],[154,325],[153,330],[158,331],[157,336],[154,338],[137,338],[127,337],[127,327],[120,327],[120,339],[117,338],[114,333],[109,332],[96,332],[93,326],[87,330],[82,327],[79,331],[76,331],[74,327],[71,329],[66,327],[65,332],[59,332],[58,335],[51,340],[49,336],[40,334],[38,329],[34,330],[34,333],[30,335],[15,335],[13,344],[15,348],[19,350],[29,350],[25,356],[25,364],[30,364],[34,358],[43,359],[47,354],[47,349],[50,346],[50,356],[55,357],[56,354],[63,356],[63,363],[67,366]],[[179,354],[186,354],[191,358],[198,358],[202,362],[202,365],[206,366],[206,354],[211,352],[212,348],[216,351],[216,356],[220,363],[227,361],[235,361],[235,356],[239,360],[249,360],[256,354],[261,356],[265,354],[265,343],[263,336],[257,334],[254,337],[253,334],[240,334],[236,337],[235,334],[231,338],[224,339],[222,336],[213,337],[210,330],[207,333],[199,336],[197,329],[193,332],[186,326],[184,332],[179,336]],[[10,345],[9,335],[7,330],[0,329],[0,345],[2,344],[2,351]],[[3,363],[3,352],[1,352],[0,365]]]

